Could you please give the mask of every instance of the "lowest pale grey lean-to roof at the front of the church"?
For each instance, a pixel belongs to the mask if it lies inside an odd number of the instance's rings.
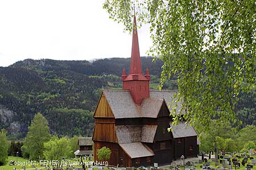
[[[122,143],[119,145],[123,151],[125,151],[126,154],[130,156],[130,158],[154,156],[154,152],[149,147],[143,145],[141,142]]]

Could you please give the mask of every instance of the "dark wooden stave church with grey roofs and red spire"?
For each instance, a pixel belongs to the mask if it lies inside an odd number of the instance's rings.
[[[102,92],[94,112],[94,161],[104,146],[112,151],[109,165],[119,167],[163,165],[181,155],[197,156],[195,129],[184,122],[171,125],[168,104],[174,92],[150,90],[149,70],[143,75],[135,16],[130,74],[123,69],[122,81],[123,90]],[[170,126],[172,132],[167,130]]]

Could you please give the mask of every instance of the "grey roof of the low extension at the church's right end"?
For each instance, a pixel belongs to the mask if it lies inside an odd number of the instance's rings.
[[[185,122],[180,122],[176,126],[172,125],[170,122],[170,126],[173,129],[172,135],[174,135],[174,138],[197,136],[196,130],[193,126],[190,126],[189,124],[185,125]]]

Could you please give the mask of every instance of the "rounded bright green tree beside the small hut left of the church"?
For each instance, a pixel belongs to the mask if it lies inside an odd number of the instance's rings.
[[[59,160],[61,158],[68,158],[71,155],[71,141],[64,137],[64,138],[53,138],[51,141],[44,143],[44,157],[47,160]]]

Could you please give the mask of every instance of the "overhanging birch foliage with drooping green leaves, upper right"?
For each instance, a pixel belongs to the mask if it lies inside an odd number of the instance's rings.
[[[103,7],[131,31],[133,3],[108,0]],[[161,83],[177,76],[172,112],[183,101],[194,126],[208,128],[216,116],[235,122],[238,95],[255,88],[255,1],[137,0],[135,7],[138,21],[150,24],[150,53],[164,62]]]

